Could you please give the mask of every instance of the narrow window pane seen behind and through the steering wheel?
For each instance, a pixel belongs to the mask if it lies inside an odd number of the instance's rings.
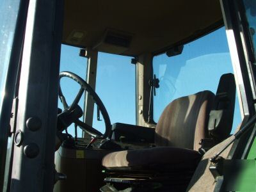
[[[60,72],[69,71],[77,74],[79,77],[86,79],[86,70],[87,70],[87,58],[83,58],[79,56],[78,47],[72,47],[68,45],[61,45],[61,58],[60,58]],[[65,99],[67,100],[67,104],[70,105],[75,99],[77,93],[79,92],[80,86],[76,81],[63,77],[60,82],[61,91]],[[84,93],[79,100],[80,108],[84,109]],[[60,99],[58,100],[58,108],[63,109],[63,104]],[[83,116],[80,118],[83,121]],[[77,129],[77,136],[82,137],[82,130]],[[74,124],[68,127],[68,133],[75,136],[75,128]]]

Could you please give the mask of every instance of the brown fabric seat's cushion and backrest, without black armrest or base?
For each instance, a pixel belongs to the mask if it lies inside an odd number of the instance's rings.
[[[156,147],[112,152],[102,159],[102,165],[112,171],[193,173],[202,157],[198,152],[199,142],[208,136],[214,96],[210,91],[203,91],[173,100],[157,123]]]

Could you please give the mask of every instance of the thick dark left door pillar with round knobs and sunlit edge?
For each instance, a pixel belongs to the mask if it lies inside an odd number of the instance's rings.
[[[63,1],[29,1],[10,191],[54,186],[62,25]]]

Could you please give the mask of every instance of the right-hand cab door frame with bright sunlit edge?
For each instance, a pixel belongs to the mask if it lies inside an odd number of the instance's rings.
[[[236,73],[237,90],[240,90],[239,99],[241,100],[241,113],[244,115],[243,124],[255,114],[255,66],[252,62],[252,49],[248,44],[248,33],[244,28],[243,2],[221,0],[221,10],[227,32],[228,46],[232,65]],[[256,127],[246,132],[242,138],[234,142],[229,153],[233,159],[244,159],[248,154],[248,149],[252,145],[256,135]]]

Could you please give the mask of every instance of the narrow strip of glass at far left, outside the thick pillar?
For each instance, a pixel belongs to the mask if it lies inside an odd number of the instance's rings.
[[[10,178],[10,161],[12,157],[12,146],[13,146],[13,134],[6,134],[9,132],[8,122],[10,121],[9,115],[6,115],[6,109],[12,108],[11,104],[8,104],[8,100],[13,99],[10,95],[12,87],[8,87],[10,84],[7,80],[8,75],[14,76],[17,74],[17,68],[15,65],[10,65],[12,58],[14,58],[14,51],[20,51],[17,45],[17,39],[15,42],[15,33],[19,33],[22,36],[22,31],[15,30],[17,28],[20,18],[18,18],[19,10],[22,9],[22,3],[17,0],[0,1],[0,111],[4,111],[0,114],[1,125],[0,125],[0,191],[7,191],[8,177]],[[13,47],[17,49],[13,49]],[[13,62],[13,60],[12,60]],[[10,67],[12,66],[12,67]],[[12,85],[13,86],[13,85]],[[7,92],[6,92],[7,91]],[[8,94],[6,94],[8,93]],[[7,105],[6,105],[7,104]],[[6,146],[7,145],[7,146]]]

